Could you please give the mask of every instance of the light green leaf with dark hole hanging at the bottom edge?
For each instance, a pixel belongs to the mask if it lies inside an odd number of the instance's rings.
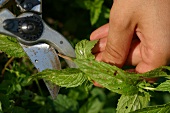
[[[118,102],[117,113],[129,113],[148,105],[150,95],[139,93],[135,95],[122,95]]]

